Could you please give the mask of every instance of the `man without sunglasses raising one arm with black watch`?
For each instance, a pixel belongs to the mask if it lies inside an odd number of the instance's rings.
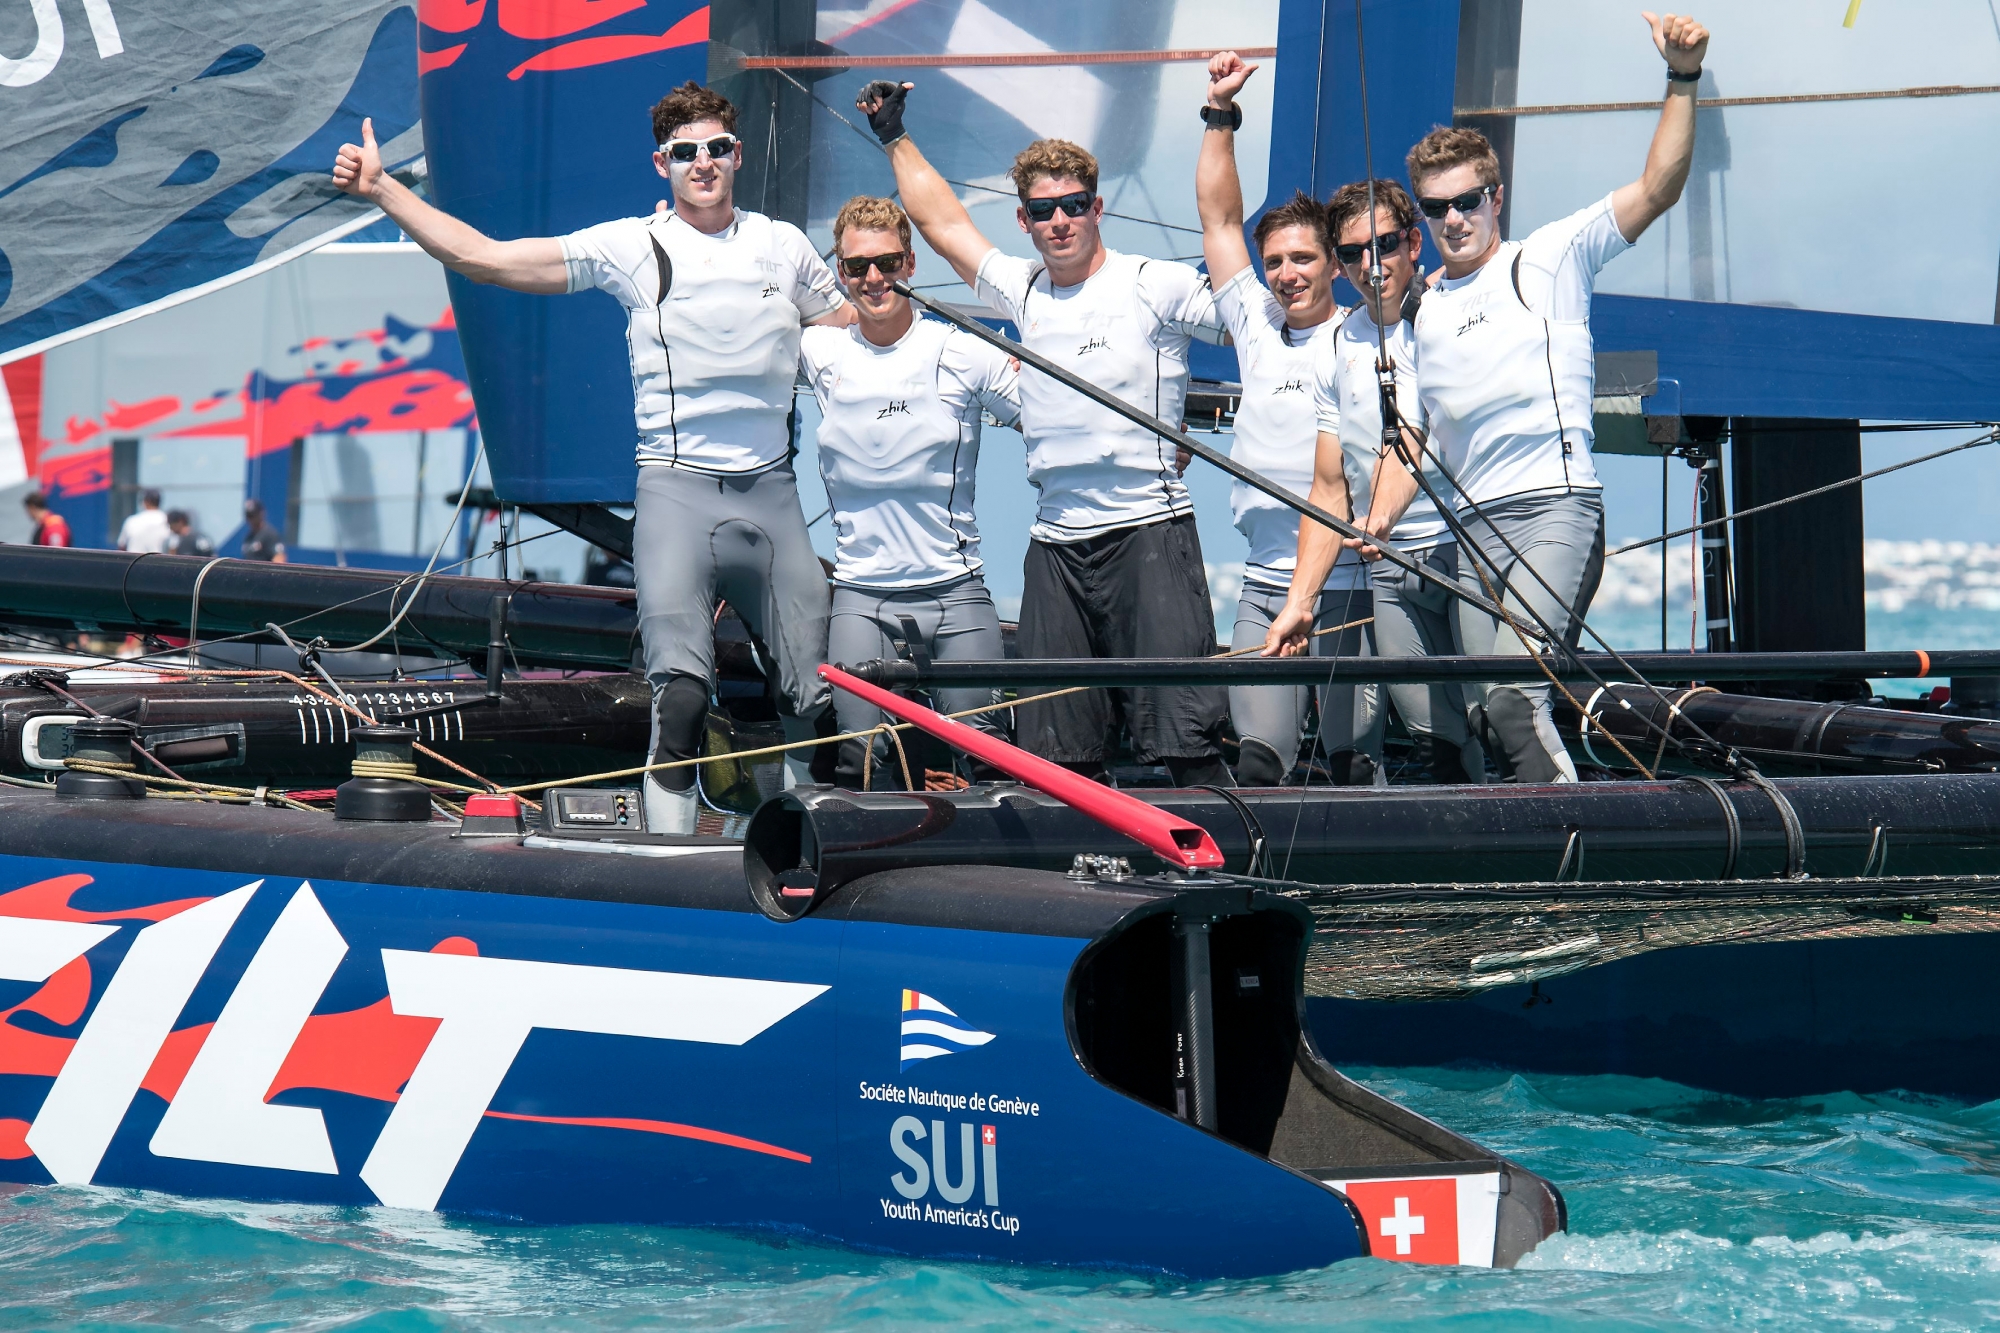
[[[1236,172],[1236,94],[1256,68],[1232,50],[1208,62],[1208,106],[1214,110],[1194,164],[1194,200],[1216,310],[1236,340],[1242,376],[1230,456],[1304,496],[1312,488],[1312,368],[1340,314],[1334,304],[1334,240],[1326,230],[1326,208],[1310,194],[1294,194],[1258,218],[1254,240],[1264,264],[1264,282],[1258,282],[1244,246],[1244,198]],[[1250,542],[1230,646],[1248,648],[1266,640],[1292,590],[1298,510],[1242,482],[1230,490],[1230,508],[1236,528]],[[1332,630],[1368,618],[1364,568],[1360,558],[1350,558],[1332,578],[1322,570],[1320,580],[1298,594],[1314,628]],[[1366,626],[1318,634],[1312,648],[1330,656],[1366,652]],[[1308,689],[1230,687],[1240,785],[1278,787],[1292,773],[1306,727]],[[1320,747],[1336,781],[1346,783],[1354,769],[1356,733],[1368,733],[1370,719],[1356,717],[1360,701],[1352,685],[1322,689],[1320,695]],[[1368,769],[1372,775],[1372,765]]]

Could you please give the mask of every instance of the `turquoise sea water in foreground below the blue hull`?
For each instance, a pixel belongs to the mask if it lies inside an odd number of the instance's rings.
[[[2000,1103],[1714,1099],[1642,1079],[1354,1071],[1554,1179],[1512,1273],[1268,1281],[932,1265],[648,1227],[480,1227],[162,1195],[0,1195],[0,1327],[1972,1329],[2000,1323]]]

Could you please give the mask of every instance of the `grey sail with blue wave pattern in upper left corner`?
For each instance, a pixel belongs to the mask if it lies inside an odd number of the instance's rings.
[[[0,8],[0,362],[368,226],[362,116],[422,156],[408,0]]]

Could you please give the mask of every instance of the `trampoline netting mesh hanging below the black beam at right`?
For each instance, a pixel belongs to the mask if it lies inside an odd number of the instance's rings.
[[[2000,881],[1288,889],[1316,921],[1306,995],[1464,999],[1688,945],[2000,931]]]

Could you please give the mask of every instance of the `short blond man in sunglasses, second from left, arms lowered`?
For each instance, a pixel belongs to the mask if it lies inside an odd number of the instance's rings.
[[[850,198],[834,216],[834,266],[858,322],[808,328],[806,382],[820,402],[820,476],[834,510],[834,618],[828,658],[896,656],[908,640],[940,660],[1004,656],[1000,614],[980,578],[974,478],[980,418],[1020,420],[1020,368],[1004,352],[940,320],[920,320],[890,284],[916,268],[910,218],[886,198]],[[998,703],[998,691],[938,691],[946,713]],[[864,731],[882,711],[834,695],[840,731]],[[1006,737],[998,715],[970,725]],[[862,787],[894,765],[888,739],[844,741],[834,773]],[[970,773],[970,769],[968,769]],[[896,787],[902,787],[900,773]]]

